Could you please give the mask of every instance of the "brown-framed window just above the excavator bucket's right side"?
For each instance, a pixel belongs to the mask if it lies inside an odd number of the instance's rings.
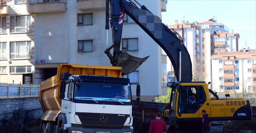
[[[138,50],[138,38],[123,38],[122,51]]]

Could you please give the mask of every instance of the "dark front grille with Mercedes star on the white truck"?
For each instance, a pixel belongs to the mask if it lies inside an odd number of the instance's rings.
[[[104,113],[75,113],[87,128],[122,128],[130,115]]]

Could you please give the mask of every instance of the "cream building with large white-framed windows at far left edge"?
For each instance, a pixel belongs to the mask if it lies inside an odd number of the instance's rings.
[[[0,82],[33,83],[34,14],[24,0],[0,3]]]

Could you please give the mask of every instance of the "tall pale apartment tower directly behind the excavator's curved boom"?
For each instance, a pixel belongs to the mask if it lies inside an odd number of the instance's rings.
[[[192,70],[194,73],[203,73],[204,72],[204,30],[200,28],[200,24],[195,23],[184,23],[181,21],[178,24],[178,21],[175,21],[175,25],[168,25],[169,29],[174,29],[178,34],[181,35],[183,44],[187,47],[187,51],[190,54],[192,61]],[[168,79],[169,81],[175,81],[174,71],[171,66],[171,61],[168,59]],[[182,65],[182,64],[181,64]]]

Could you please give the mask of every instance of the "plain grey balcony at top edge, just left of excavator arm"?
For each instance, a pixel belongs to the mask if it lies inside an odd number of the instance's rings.
[[[78,0],[78,9],[86,10],[101,10],[106,8],[105,0]]]

